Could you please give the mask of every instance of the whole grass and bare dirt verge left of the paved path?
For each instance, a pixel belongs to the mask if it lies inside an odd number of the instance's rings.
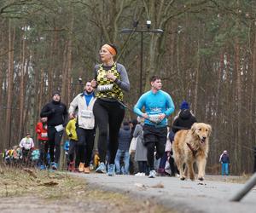
[[[0,173],[1,212],[175,212],[153,200],[106,192],[84,177],[30,169]]]

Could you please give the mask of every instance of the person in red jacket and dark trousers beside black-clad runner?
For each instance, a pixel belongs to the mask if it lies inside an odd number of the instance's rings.
[[[44,170],[48,166],[46,157],[49,149],[48,135],[47,135],[47,117],[41,118],[41,122],[38,122],[36,126],[36,132],[38,134],[38,144],[40,151],[40,169]]]

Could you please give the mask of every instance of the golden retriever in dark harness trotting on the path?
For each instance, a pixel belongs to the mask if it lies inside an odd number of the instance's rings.
[[[190,130],[179,130],[175,134],[172,150],[181,180],[185,180],[187,175],[192,181],[195,180],[193,168],[195,162],[198,168],[198,179],[204,180],[211,131],[211,125],[195,123]],[[183,164],[185,164],[185,170],[183,170]]]

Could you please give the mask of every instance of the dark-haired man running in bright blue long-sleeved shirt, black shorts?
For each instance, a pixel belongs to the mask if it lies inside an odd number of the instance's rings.
[[[156,159],[161,158],[165,153],[167,117],[174,112],[175,107],[172,97],[161,90],[160,77],[153,76],[150,78],[150,83],[151,90],[140,97],[133,110],[138,116],[145,118],[143,140],[148,150],[147,158],[150,170],[148,177],[154,178],[156,173],[154,170],[154,147],[156,147]]]

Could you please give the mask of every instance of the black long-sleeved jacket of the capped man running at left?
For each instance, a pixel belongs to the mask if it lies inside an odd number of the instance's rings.
[[[51,101],[43,107],[40,117],[47,117],[49,126],[60,124],[65,126],[67,123],[67,107],[61,101]]]

